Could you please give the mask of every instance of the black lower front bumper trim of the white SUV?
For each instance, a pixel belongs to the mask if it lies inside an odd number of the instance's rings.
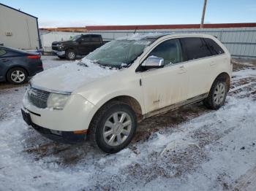
[[[42,136],[47,137],[53,141],[59,141],[62,143],[73,144],[79,141],[84,141],[86,139],[86,131],[81,134],[77,134],[73,131],[61,131],[61,130],[50,130],[48,128],[43,128],[37,124],[32,122],[30,113],[26,112],[24,109],[21,109],[23,120],[28,124],[31,125],[32,128],[37,130]]]

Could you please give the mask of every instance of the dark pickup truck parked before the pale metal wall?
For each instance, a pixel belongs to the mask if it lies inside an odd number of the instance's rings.
[[[104,42],[98,34],[80,34],[69,41],[53,42],[52,50],[59,58],[74,60],[77,55],[88,55],[89,52],[101,47]]]

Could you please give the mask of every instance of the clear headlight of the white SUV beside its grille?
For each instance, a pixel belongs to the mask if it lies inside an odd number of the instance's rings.
[[[50,93],[47,100],[47,107],[53,109],[64,109],[65,104],[69,95],[60,94],[60,93]]]

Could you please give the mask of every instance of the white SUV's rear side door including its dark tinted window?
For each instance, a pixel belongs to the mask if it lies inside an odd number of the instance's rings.
[[[187,55],[188,98],[208,93],[211,87],[210,66],[214,65],[211,50],[200,37],[181,38],[181,45]]]

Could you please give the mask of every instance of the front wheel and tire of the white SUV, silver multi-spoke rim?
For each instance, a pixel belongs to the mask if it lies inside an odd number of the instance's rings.
[[[132,108],[121,101],[111,101],[91,120],[89,141],[103,152],[113,154],[127,147],[136,128],[137,119]]]

